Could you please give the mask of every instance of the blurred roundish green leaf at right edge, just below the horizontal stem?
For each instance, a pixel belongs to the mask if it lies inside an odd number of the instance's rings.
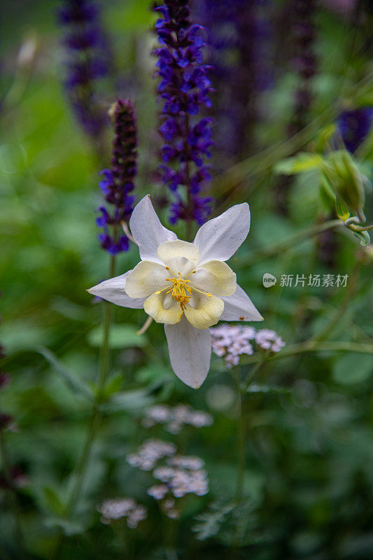
[[[373,373],[372,354],[348,353],[335,361],[332,376],[337,383],[349,385],[367,381]]]

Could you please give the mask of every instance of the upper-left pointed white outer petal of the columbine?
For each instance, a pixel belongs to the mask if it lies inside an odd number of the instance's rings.
[[[129,220],[129,228],[131,229],[132,237],[139,245],[141,260],[160,262],[157,256],[158,246],[164,243],[164,241],[177,239],[174,232],[167,230],[160,223],[149,195],[143,197],[134,207],[131,219]]]

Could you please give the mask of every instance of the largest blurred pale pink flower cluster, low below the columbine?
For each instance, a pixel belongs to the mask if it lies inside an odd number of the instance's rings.
[[[170,442],[146,440],[137,453],[127,456],[127,461],[141,470],[154,469],[152,476],[160,484],[150,486],[148,494],[155,500],[162,500],[162,510],[170,519],[176,519],[180,514],[176,507],[177,498],[188,493],[204,496],[209,492],[202,458],[176,455],[176,447]]]

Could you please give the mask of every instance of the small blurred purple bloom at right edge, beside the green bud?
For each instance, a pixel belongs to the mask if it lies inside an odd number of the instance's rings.
[[[370,132],[373,124],[373,107],[359,107],[343,111],[337,118],[337,128],[347,150],[356,152]]]

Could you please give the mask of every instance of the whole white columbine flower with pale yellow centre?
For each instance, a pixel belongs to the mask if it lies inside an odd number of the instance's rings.
[[[188,243],[162,226],[147,195],[132,212],[129,227],[141,261],[88,291],[122,307],[143,308],[164,323],[172,369],[185,384],[198,388],[210,367],[209,327],[220,319],[262,321],[225,264],[248,235],[248,204],[204,223]]]

